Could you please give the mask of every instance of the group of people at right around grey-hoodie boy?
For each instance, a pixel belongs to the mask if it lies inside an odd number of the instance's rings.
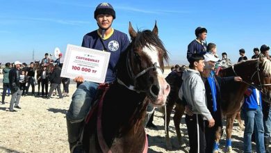
[[[215,141],[215,131],[218,127],[222,128],[220,97],[218,96],[220,94],[217,93],[220,91],[222,79],[227,83],[231,80],[242,81],[242,78],[217,77],[215,70],[230,67],[233,63],[225,52],[222,53],[221,61],[217,58],[214,43],[206,45],[207,29],[198,27],[195,35],[197,38],[188,45],[187,58],[190,65],[188,70],[183,72],[183,84],[179,91],[179,98],[186,104],[190,152],[213,152],[218,147],[218,142]],[[270,47],[267,45],[262,45],[260,49],[255,47],[252,58],[259,58],[261,54],[270,59],[269,49]],[[245,56],[245,49],[240,49],[239,54],[238,63],[248,60]],[[219,79],[220,81],[217,81]],[[245,120],[243,151],[252,152],[252,136],[254,136],[256,152],[270,152],[268,148],[270,144],[270,106],[261,101],[261,92],[253,86],[250,86],[245,92],[242,111]]]

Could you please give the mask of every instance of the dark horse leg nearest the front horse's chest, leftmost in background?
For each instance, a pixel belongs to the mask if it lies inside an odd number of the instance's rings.
[[[166,106],[166,110],[165,110],[166,115],[164,115],[164,121],[166,122],[166,125],[165,125],[165,147],[167,148],[167,150],[172,150],[172,144],[170,142],[170,134],[168,132],[168,126],[170,124],[170,115],[171,115],[173,106],[174,106],[174,102],[168,102],[167,106]],[[166,120],[165,120],[165,118],[166,118]]]

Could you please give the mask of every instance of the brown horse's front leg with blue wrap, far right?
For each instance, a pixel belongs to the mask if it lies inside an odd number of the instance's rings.
[[[233,129],[233,121],[236,118],[236,114],[234,113],[232,115],[227,115],[227,127],[226,127],[226,134],[227,134],[227,139],[226,139],[226,150],[227,152],[233,152],[232,147],[231,147],[231,133]]]

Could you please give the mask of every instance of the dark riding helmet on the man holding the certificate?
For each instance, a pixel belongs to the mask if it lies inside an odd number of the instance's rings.
[[[112,15],[113,19],[116,18],[115,10],[113,6],[111,6],[110,3],[99,3],[99,5],[96,7],[96,10],[94,12],[94,18],[96,19],[97,15],[101,15],[101,14]]]

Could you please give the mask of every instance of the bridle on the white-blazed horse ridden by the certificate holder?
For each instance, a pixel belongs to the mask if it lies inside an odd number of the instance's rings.
[[[145,68],[145,70],[142,70],[141,72],[139,72],[138,74],[133,74],[133,70],[131,67],[131,60],[130,60],[130,55],[131,54],[131,50],[128,51],[127,56],[126,56],[126,68],[127,68],[127,72],[129,74],[130,79],[133,81],[133,85],[129,85],[127,86],[123,81],[121,81],[119,78],[117,78],[117,82],[122,84],[123,86],[125,86],[126,88],[128,88],[129,90],[135,90],[137,92],[147,92],[147,90],[138,90],[136,89],[136,79],[138,79],[138,77],[142,76],[143,74],[145,74],[146,72],[148,72],[149,70],[153,70],[156,71],[157,68],[160,69],[163,72],[163,69],[161,67],[157,66],[157,63],[154,63],[154,65],[151,65],[150,67]]]

